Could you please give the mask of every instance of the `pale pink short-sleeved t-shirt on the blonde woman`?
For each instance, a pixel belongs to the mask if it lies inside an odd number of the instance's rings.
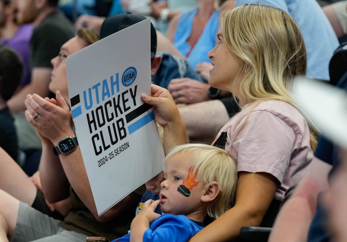
[[[313,158],[307,122],[293,106],[273,100],[261,102],[244,124],[251,106],[245,105],[217,137],[227,132],[225,149],[237,160],[238,172],[274,176],[281,183],[275,199],[283,200]]]

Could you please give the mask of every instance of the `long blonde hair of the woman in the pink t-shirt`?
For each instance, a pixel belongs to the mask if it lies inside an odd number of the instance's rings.
[[[221,22],[225,43],[243,60],[232,90],[254,102],[251,110],[267,100],[284,101],[297,108],[289,85],[293,77],[306,74],[307,59],[294,19],[279,8],[244,4],[223,12]],[[314,149],[318,131],[306,121]]]

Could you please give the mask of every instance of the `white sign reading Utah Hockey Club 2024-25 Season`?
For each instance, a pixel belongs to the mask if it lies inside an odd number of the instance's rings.
[[[151,106],[150,20],[66,60],[76,136],[99,216],[163,169]],[[135,211],[134,211],[135,212]]]

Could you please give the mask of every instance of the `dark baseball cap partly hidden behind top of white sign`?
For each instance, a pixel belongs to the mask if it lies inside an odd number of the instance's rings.
[[[133,13],[120,13],[108,16],[103,24],[101,25],[100,30],[100,39],[103,39],[109,35],[112,35],[119,30],[122,30],[130,25],[138,23],[146,17],[133,14]],[[151,23],[151,58],[154,58],[157,51],[157,33],[153,24]]]

